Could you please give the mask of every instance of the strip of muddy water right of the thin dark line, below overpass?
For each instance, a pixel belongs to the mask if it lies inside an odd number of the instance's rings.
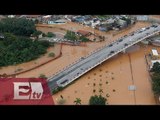
[[[151,90],[144,49],[142,48],[139,53],[132,53],[130,57],[133,69],[133,83],[137,87],[135,91],[136,104],[154,104],[155,100]]]

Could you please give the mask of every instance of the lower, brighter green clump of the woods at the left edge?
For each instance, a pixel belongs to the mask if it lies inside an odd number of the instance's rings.
[[[36,59],[41,54],[46,53],[49,45],[47,41],[33,41],[26,37],[4,33],[4,39],[0,39],[0,66],[19,64]]]

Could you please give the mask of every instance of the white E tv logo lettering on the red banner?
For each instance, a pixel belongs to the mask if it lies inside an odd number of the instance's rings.
[[[15,100],[38,100],[42,98],[41,82],[13,82]]]

